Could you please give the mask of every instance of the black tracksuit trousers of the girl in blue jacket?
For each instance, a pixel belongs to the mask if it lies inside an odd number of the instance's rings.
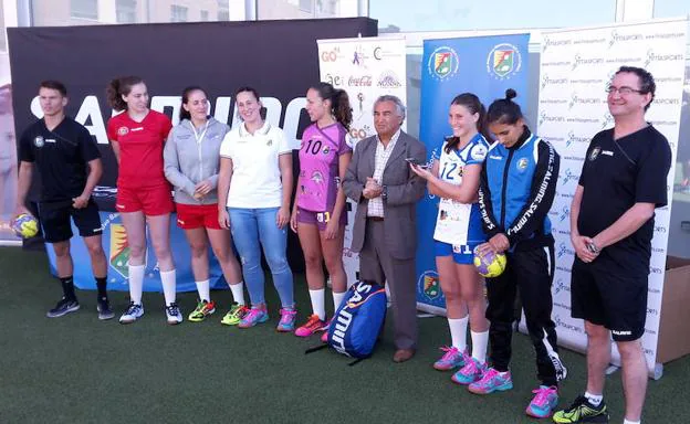
[[[557,385],[566,370],[558,358],[555,324],[551,319],[551,285],[554,273],[553,246],[508,253],[508,267],[496,278],[487,278],[491,363],[508,371],[512,349],[515,295],[520,290],[525,324],[536,351],[537,378],[544,385]]]

